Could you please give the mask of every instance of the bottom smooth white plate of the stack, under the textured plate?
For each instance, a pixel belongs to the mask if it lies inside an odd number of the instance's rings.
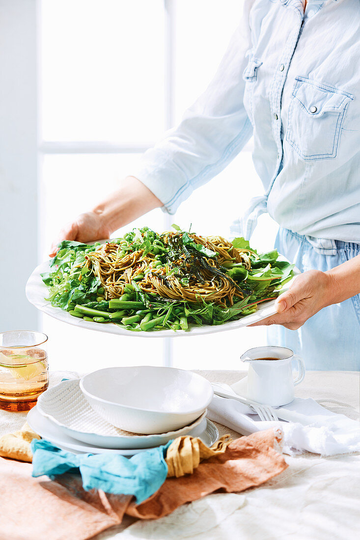
[[[77,441],[76,439],[66,435],[57,424],[53,423],[48,418],[42,416],[37,410],[37,406],[31,409],[26,417],[29,426],[34,429],[35,433],[51,442],[55,446],[75,453],[81,454],[120,454],[122,456],[134,456],[139,452],[144,452],[148,448],[99,448],[97,446],[88,446],[87,444]],[[199,426],[200,429],[200,426]],[[187,435],[198,436],[206,446],[211,446],[219,437],[216,426],[208,419],[204,418],[201,422],[202,433],[193,435],[190,431]],[[158,445],[157,445],[158,446]]]

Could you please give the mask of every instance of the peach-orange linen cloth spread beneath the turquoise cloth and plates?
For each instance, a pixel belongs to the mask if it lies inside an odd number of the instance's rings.
[[[288,467],[278,452],[281,442],[281,432],[272,429],[238,438],[193,474],[167,478],[138,505],[132,496],[86,492],[78,475],[32,478],[31,464],[0,458],[0,540],[86,540],[121,523],[125,514],[156,519],[214,491],[261,485]]]

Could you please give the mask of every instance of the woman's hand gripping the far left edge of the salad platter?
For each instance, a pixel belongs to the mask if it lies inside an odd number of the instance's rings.
[[[101,214],[85,212],[78,215],[74,221],[69,221],[59,232],[57,239],[50,248],[50,257],[54,257],[57,246],[62,240],[76,240],[77,242],[91,242],[110,238],[112,231],[107,226]]]

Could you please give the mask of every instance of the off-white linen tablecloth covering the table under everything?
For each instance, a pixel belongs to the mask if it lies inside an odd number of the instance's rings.
[[[232,384],[244,372],[204,371],[210,381]],[[54,381],[55,382],[55,381]],[[308,372],[296,387],[324,407],[359,419],[359,374]],[[0,434],[18,429],[25,414],[0,411]],[[220,434],[234,431],[219,426]],[[95,540],[349,540],[360,530],[360,454],[320,458],[285,456],[289,468],[242,494],[214,494],[156,521],[125,517]]]

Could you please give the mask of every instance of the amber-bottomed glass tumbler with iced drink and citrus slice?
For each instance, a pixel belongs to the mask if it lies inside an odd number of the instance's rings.
[[[41,332],[0,333],[0,409],[30,410],[48,388],[47,341]]]

